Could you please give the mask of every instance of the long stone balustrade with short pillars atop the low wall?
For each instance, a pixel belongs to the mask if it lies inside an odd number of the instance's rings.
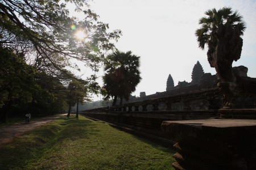
[[[190,92],[181,95],[169,95],[165,97],[135,101],[123,104],[122,107],[103,107],[89,109],[86,112],[148,112],[148,111],[172,111],[172,110],[212,110],[220,109],[221,93],[218,88]],[[204,102],[203,102],[204,100]],[[203,103],[202,103],[203,102]],[[203,109],[202,109],[203,106]],[[198,109],[200,108],[201,109]]]

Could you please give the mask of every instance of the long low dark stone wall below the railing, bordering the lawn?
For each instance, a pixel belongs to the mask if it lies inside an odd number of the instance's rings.
[[[216,117],[217,111],[168,111],[168,112],[80,112],[83,116],[125,126],[158,137],[167,138],[162,132],[161,125],[167,120],[199,120]]]

